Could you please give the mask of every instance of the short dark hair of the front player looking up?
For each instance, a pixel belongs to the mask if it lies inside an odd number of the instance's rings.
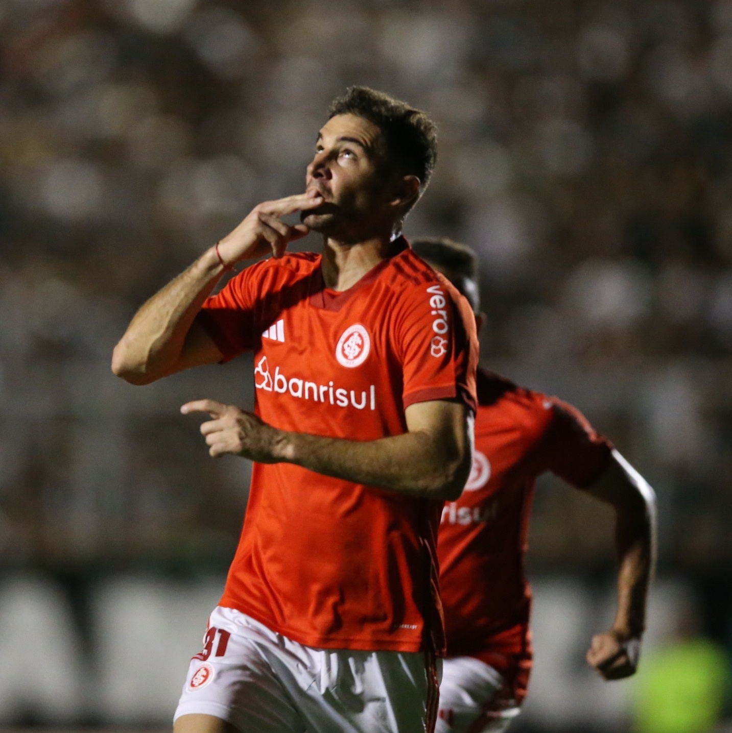
[[[424,112],[368,86],[349,86],[331,103],[329,119],[337,114],[373,122],[384,135],[389,162],[417,176],[420,192],[425,190],[437,161],[437,127]]]

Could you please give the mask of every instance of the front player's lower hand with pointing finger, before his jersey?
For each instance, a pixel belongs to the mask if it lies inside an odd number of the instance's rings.
[[[212,458],[231,453],[259,463],[277,463],[277,448],[284,433],[261,421],[256,415],[215,399],[186,402],[180,412],[208,413],[211,420],[201,425],[201,433]]]

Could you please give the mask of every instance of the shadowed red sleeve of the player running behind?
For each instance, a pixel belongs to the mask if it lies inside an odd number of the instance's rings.
[[[613,446],[577,408],[555,397],[553,416],[541,441],[544,468],[569,484],[586,489],[601,476]]]

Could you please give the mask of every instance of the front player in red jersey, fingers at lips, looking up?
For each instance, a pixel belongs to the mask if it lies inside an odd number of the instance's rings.
[[[114,350],[133,384],[254,352],[254,414],[181,408],[211,417],[211,456],[255,464],[176,733],[422,733],[436,718],[436,534],[472,465],[475,318],[399,235],[433,168],[433,124],[364,87],[329,114],[305,193],[255,207]],[[310,230],[323,254],[287,254]]]

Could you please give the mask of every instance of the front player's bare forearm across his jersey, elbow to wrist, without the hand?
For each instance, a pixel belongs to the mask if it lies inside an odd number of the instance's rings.
[[[469,444],[450,445],[428,432],[377,441],[346,441],[288,432],[279,454],[288,463],[337,479],[435,499],[460,496],[471,462]]]

